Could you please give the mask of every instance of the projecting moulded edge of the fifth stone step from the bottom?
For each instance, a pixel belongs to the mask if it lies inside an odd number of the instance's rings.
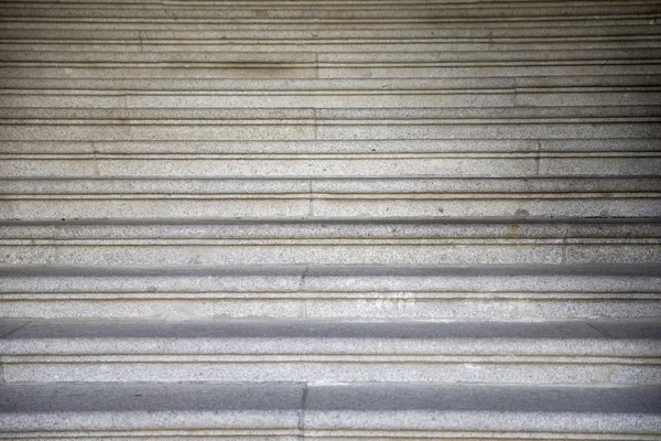
[[[339,197],[339,195],[418,194],[424,197],[447,198],[448,195],[503,195],[527,198],[534,195],[573,194],[575,196],[594,193],[646,193],[650,196],[661,189],[661,176],[540,176],[527,178],[436,178],[436,176],[397,176],[397,178],[87,178],[72,180],[66,178],[7,178],[1,179],[1,193],[4,200],[34,198],[72,195],[77,197],[104,196],[115,198],[143,195],[149,198],[178,195],[180,197],[221,197],[232,195],[291,195],[290,197],[310,198]],[[23,196],[24,195],[24,196]],[[336,196],[334,196],[336,195]]]

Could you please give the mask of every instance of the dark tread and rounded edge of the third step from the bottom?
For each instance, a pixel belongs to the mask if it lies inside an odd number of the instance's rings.
[[[563,295],[625,299],[661,294],[661,266],[187,266],[0,267],[2,300],[189,297],[245,293],[273,297],[328,293],[338,298],[419,293],[430,298],[525,298]],[[530,299],[532,300],[532,298]],[[661,300],[661,298],[660,298]]]

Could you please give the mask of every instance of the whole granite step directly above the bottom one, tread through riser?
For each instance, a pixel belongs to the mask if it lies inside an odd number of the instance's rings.
[[[3,322],[6,384],[654,385],[661,322]],[[11,329],[13,327],[13,331]]]

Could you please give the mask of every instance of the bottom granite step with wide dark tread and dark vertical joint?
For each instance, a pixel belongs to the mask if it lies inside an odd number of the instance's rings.
[[[658,440],[661,387],[0,386],[0,439]]]

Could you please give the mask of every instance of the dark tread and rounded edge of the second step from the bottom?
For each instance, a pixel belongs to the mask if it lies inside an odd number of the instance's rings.
[[[11,323],[15,323],[13,320]],[[484,354],[661,356],[661,346],[636,347],[639,341],[661,340],[660,321],[592,322],[347,322],[347,321],[34,321],[0,337],[4,355],[28,354]],[[17,323],[17,325],[19,324]],[[8,325],[8,326],[10,326]],[[154,349],[153,341],[167,342]],[[337,341],[345,341],[342,346]],[[346,344],[353,341],[351,344]],[[360,343],[364,342],[364,344]],[[391,346],[372,346],[377,341]],[[503,349],[497,346],[505,343]],[[546,345],[535,347],[535,344]],[[572,344],[571,342],[576,342]],[[302,346],[301,343],[304,343]],[[607,343],[607,344],[606,344]],[[90,346],[91,344],[91,346]],[[367,344],[367,346],[366,346]],[[485,345],[486,344],[486,345]],[[142,348],[141,348],[141,345]],[[254,345],[250,347],[249,345]],[[326,346],[325,346],[326,345]],[[553,347],[555,345],[555,347]],[[596,347],[593,353],[590,345]],[[288,347],[289,346],[289,347]],[[71,352],[67,352],[71,351]],[[142,352],[147,351],[147,352]],[[162,351],[162,352],[161,352]],[[392,351],[392,352],[390,352]],[[499,351],[502,351],[499,353]],[[594,349],[593,349],[594,351]],[[599,353],[602,351],[603,353]],[[619,352],[618,352],[619,351]]]

